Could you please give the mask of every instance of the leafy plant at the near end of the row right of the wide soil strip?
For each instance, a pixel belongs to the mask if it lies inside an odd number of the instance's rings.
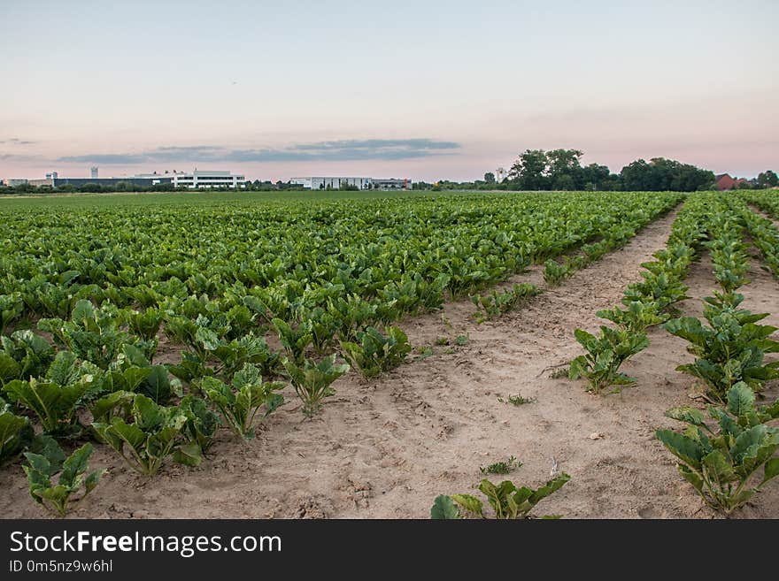
[[[571,379],[587,378],[590,390],[596,394],[607,386],[625,386],[635,383],[624,373],[620,373],[622,363],[632,355],[649,346],[649,340],[644,333],[630,333],[622,329],[600,327],[600,337],[596,337],[582,329],[576,329],[575,338],[587,351],[571,362],[568,377]]]

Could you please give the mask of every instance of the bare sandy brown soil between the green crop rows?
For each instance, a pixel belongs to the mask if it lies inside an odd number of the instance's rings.
[[[537,513],[574,518],[712,518],[673,457],[654,437],[678,427],[664,417],[690,398],[693,380],[675,371],[689,362],[683,340],[661,329],[625,370],[637,378],[618,394],[592,395],[583,382],[550,375],[581,348],[574,329],[604,323],[595,312],[613,307],[622,289],[640,278],[642,262],[663,248],[675,213],[639,233],[625,248],[579,271],[563,285],[528,300],[520,310],[477,325],[469,301],[401,325],[415,346],[435,354],[371,381],[355,373],[339,379],[337,395],[305,420],[295,394],[248,443],[220,432],[210,458],[197,469],[166,465],[152,478],[136,475],[106,447],[93,467],[110,469],[77,517],[204,518],[428,518],[440,493],[473,492],[480,466],[514,455],[523,465],[507,477],[539,485],[553,466],[571,481]],[[779,325],[779,285],[760,261],[742,289],[744,307],[769,312]],[[510,282],[541,282],[538,269]],[[704,256],[693,264],[690,296],[681,304],[699,315],[699,299],[715,287]],[[456,337],[467,335],[465,346]],[[449,345],[435,345],[436,340]],[[768,386],[776,398],[779,386]],[[512,394],[536,401],[501,403]],[[18,465],[0,471],[0,515],[40,517]],[[737,517],[779,517],[774,481]]]

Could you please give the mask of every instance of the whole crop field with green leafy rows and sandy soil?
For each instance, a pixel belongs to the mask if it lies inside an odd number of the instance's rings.
[[[779,517],[777,198],[2,199],[0,514]]]

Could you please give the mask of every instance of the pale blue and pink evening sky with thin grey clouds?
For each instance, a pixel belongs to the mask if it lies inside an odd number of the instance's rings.
[[[0,0],[0,178],[779,170],[779,2]]]

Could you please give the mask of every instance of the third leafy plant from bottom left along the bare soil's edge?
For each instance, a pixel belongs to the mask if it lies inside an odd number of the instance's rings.
[[[205,396],[220,410],[225,424],[242,438],[254,437],[254,418],[265,406],[264,418],[284,403],[279,381],[263,382],[258,368],[246,363],[235,373],[232,386],[218,378],[204,378],[201,384]]]

